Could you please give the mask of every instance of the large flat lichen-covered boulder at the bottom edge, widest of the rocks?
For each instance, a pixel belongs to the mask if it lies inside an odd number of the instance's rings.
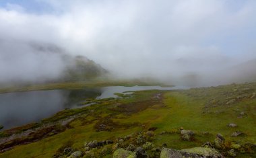
[[[214,157],[221,158],[223,157],[218,151],[212,148],[204,148],[204,147],[195,147],[191,149],[183,149],[183,150],[174,150],[163,148],[161,151],[161,158],[200,158],[200,157]]]

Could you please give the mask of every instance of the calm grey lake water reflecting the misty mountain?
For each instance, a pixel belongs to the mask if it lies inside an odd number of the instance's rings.
[[[117,97],[114,93],[139,90],[187,89],[187,87],[102,87],[79,90],[26,91],[0,94],[0,125],[5,128],[38,122],[65,108],[76,108],[87,98]]]

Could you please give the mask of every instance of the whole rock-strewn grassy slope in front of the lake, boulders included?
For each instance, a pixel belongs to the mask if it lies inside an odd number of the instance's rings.
[[[0,157],[255,157],[255,93],[246,83],[88,100],[96,104],[1,132]]]

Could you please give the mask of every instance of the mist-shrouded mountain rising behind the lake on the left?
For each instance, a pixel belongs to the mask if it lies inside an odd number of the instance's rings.
[[[0,83],[88,81],[108,73],[86,58],[73,56],[55,44],[0,42]]]

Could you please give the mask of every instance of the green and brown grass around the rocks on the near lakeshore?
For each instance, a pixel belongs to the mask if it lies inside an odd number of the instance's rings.
[[[172,149],[187,149],[200,147],[207,141],[214,144],[218,133],[226,139],[224,149],[220,149],[223,155],[228,156],[228,150],[234,149],[232,145],[241,145],[235,149],[237,157],[256,157],[253,149],[256,143],[255,91],[256,84],[247,83],[177,91],[137,91],[131,97],[101,100],[93,106],[64,110],[43,120],[40,124],[79,114],[65,126],[65,130],[34,143],[15,146],[0,153],[0,157],[53,157],[60,155],[65,147],[84,151],[85,141],[107,139],[113,140],[114,144],[84,153],[112,157],[114,146],[120,139],[125,140],[122,145],[119,143],[120,147],[142,146],[143,143],[136,141],[140,135],[154,144],[154,149],[163,144]],[[230,128],[229,123],[237,124],[237,127]],[[191,141],[181,139],[181,128],[195,132]],[[238,130],[245,134],[231,136]],[[125,139],[127,135],[131,138]],[[152,150],[147,152],[154,157],[158,153]]]

